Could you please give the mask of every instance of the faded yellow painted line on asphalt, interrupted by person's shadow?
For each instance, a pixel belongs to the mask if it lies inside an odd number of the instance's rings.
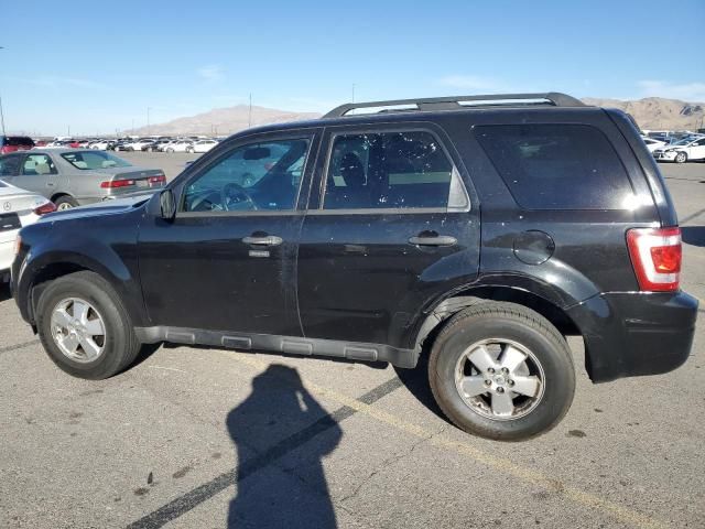
[[[265,369],[269,364],[249,355],[231,355],[229,353],[228,356],[230,358],[236,359],[240,364],[246,364],[254,369]],[[583,506],[600,510],[605,514],[611,515],[618,520],[629,523],[631,526],[638,528],[648,528],[648,529],[657,529],[664,528],[668,525],[663,521],[660,521],[655,518],[652,518],[648,515],[643,515],[638,512],[637,510],[630,509],[629,507],[623,507],[615,501],[610,501],[609,499],[600,498],[599,496],[595,496],[590,493],[586,493],[585,490],[581,490],[579,488],[575,488],[568,485],[564,485],[557,479],[552,479],[547,477],[544,473],[520,466],[514,462],[503,458],[497,457],[495,455],[482,452],[481,450],[476,449],[469,443],[465,443],[462,441],[454,441],[444,436],[443,434],[434,435],[434,432],[426,430],[416,424],[412,424],[406,422],[391,413],[388,413],[379,408],[373,406],[366,404],[360,402],[357,399],[351,397],[347,397],[345,395],[338,393],[337,391],[333,391],[327,388],[323,388],[315,384],[303,381],[304,387],[313,395],[318,397],[333,400],[339,404],[347,406],[352,408],[354,410],[364,413],[368,417],[371,417],[379,422],[393,427],[402,432],[409,433],[416,438],[427,439],[430,444],[433,444],[438,447],[452,450],[458,454],[470,457],[471,460],[482,463],[489,467],[499,469],[506,474],[523,479],[524,482],[532,483],[535,485],[541,485],[546,488],[554,490],[557,494],[562,494],[566,498],[575,501],[576,504],[581,504]]]

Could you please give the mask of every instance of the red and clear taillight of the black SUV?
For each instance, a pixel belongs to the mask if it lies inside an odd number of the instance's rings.
[[[627,246],[641,290],[679,290],[681,228],[630,229],[627,231]]]

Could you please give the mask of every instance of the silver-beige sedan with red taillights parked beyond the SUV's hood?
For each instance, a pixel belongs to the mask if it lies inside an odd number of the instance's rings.
[[[44,195],[57,209],[162,187],[161,169],[142,169],[104,151],[35,149],[0,156],[0,179]]]

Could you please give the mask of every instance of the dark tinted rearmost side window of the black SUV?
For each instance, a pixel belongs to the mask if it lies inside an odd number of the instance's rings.
[[[500,125],[475,130],[525,209],[621,209],[633,195],[615,149],[595,127]]]

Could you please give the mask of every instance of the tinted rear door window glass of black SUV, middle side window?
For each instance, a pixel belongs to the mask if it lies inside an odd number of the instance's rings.
[[[447,207],[453,164],[429,132],[338,136],[324,209]]]

